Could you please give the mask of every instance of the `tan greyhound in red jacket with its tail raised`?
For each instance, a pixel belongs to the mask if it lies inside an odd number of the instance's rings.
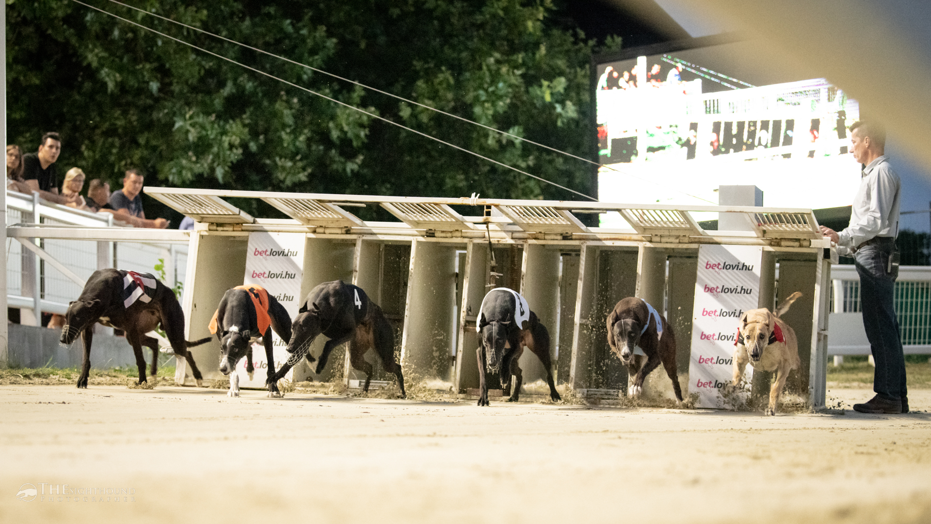
[[[776,379],[769,390],[769,406],[765,411],[767,415],[776,415],[776,403],[789,378],[789,371],[802,365],[795,331],[779,318],[786,314],[800,296],[802,294],[798,291],[789,295],[779,304],[775,313],[760,308],[740,315],[740,327],[737,328],[737,339],[734,342],[734,378],[730,387],[733,389],[740,385],[748,364],[762,371],[776,370]]]

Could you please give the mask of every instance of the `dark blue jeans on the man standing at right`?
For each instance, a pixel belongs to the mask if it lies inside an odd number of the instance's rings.
[[[860,275],[860,301],[863,310],[863,327],[870,340],[870,352],[876,362],[873,391],[885,400],[896,401],[904,397],[905,355],[898,331],[894,308],[896,274],[887,274],[889,255],[894,241],[863,246],[855,255]]]

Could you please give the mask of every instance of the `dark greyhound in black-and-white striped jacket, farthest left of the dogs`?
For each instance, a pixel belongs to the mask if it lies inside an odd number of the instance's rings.
[[[81,296],[68,305],[60,341],[70,346],[74,338],[81,335],[84,342],[84,362],[81,376],[77,379],[79,388],[88,387],[90,344],[94,338],[94,324],[98,322],[126,332],[126,339],[136,353],[139,383],[146,381],[142,346],[152,349],[152,374],[155,375],[158,369],[158,340],[145,334],[161,324],[175,355],[187,360],[197,386],[202,385],[203,377],[187,349],[209,342],[210,338],[194,342],[184,339],[181,304],[174,292],[152,275],[121,269],[98,269],[90,275]]]

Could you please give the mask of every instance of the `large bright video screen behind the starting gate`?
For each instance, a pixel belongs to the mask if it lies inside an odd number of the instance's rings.
[[[601,201],[709,205],[718,186],[734,185],[760,187],[767,207],[850,205],[857,102],[824,78],[753,59],[754,45],[598,64]],[[601,226],[627,227],[618,214],[602,214]]]

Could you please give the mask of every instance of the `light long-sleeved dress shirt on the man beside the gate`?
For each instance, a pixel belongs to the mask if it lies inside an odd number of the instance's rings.
[[[897,237],[901,186],[888,157],[883,155],[871,161],[860,179],[850,214],[850,227],[837,234],[837,244],[854,249],[874,237]]]

